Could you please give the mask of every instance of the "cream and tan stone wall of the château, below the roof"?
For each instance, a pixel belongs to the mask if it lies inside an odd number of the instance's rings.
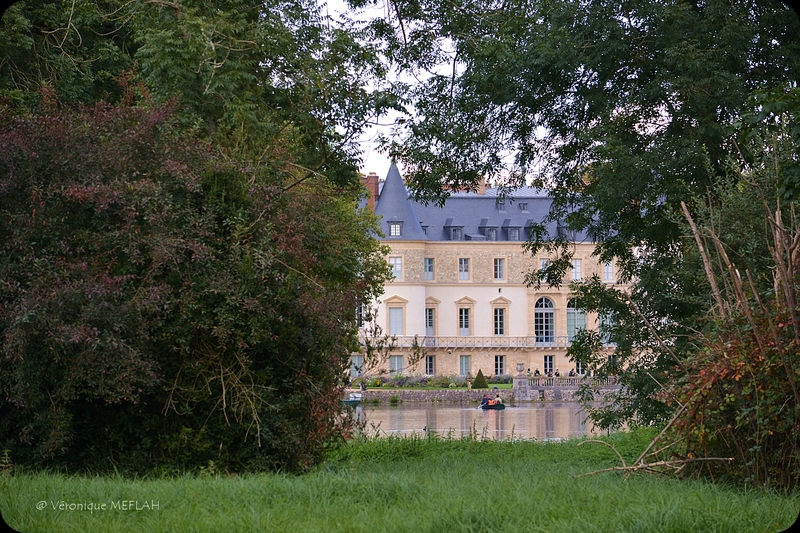
[[[403,309],[402,335],[391,355],[404,357],[404,374],[425,373],[425,362],[408,366],[414,336],[424,345],[426,355],[434,357],[435,374],[459,374],[460,356],[470,356],[470,374],[495,373],[495,357],[504,356],[503,373],[516,374],[517,363],[527,370],[544,370],[545,356],[552,356],[554,367],[562,374],[573,368],[566,357],[569,279],[560,288],[535,290],[525,285],[525,275],[539,267],[542,257],[530,257],[521,242],[509,241],[398,241],[385,242],[391,247],[389,258],[402,259],[402,274],[387,283],[377,304],[377,322],[390,332],[390,308]],[[575,258],[582,261],[582,275],[597,274],[603,279],[603,265],[591,257],[594,246],[576,243]],[[434,279],[426,280],[423,259],[433,258]],[[468,280],[459,276],[459,258],[468,258]],[[494,259],[504,259],[504,279],[494,279]],[[554,303],[554,345],[534,342],[536,301],[547,296]],[[425,308],[433,308],[434,337],[426,336]],[[470,309],[471,331],[459,334],[459,307]],[[494,335],[494,308],[506,311],[505,334]],[[587,316],[587,327],[597,329],[597,316]],[[388,365],[385,368],[388,370]]]

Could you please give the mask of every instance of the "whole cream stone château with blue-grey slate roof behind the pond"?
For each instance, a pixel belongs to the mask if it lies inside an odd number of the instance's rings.
[[[524,228],[549,208],[549,199],[538,191],[526,198],[523,191],[516,198],[522,205],[500,206],[489,189],[458,193],[435,208],[408,201],[398,181],[393,166],[376,205],[395,273],[375,305],[378,325],[395,338],[382,370],[465,377],[478,370],[487,377],[515,375],[518,368],[584,373],[566,352],[578,329],[601,328],[598,317],[570,305],[569,280],[539,290],[525,283],[526,274],[548,258],[524,252]],[[596,274],[615,283],[614,265],[592,257],[594,244],[576,241],[574,251],[570,276]],[[415,345],[422,357],[413,363]],[[355,356],[354,374],[360,362]]]

